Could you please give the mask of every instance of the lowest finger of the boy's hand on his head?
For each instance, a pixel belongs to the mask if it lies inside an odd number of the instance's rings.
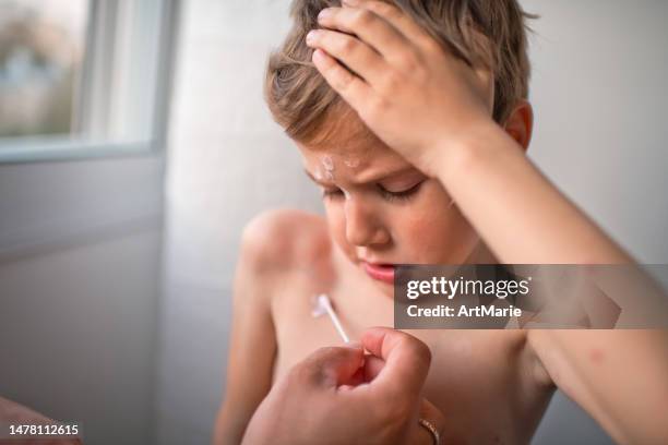
[[[327,84],[355,110],[362,109],[373,92],[360,77],[341,65],[322,49],[313,51],[313,64]]]

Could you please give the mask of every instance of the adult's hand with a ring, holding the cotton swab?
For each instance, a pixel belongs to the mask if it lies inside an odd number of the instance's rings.
[[[390,328],[367,330],[360,346],[321,348],[274,385],[243,444],[431,445],[418,423],[443,428],[443,416],[420,396],[430,360],[425,344]]]

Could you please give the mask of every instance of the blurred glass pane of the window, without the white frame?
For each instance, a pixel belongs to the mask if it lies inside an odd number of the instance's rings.
[[[85,0],[0,1],[0,137],[75,130],[87,10]]]

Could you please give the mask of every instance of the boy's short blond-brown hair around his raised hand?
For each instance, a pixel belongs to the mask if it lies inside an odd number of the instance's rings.
[[[517,100],[528,96],[530,73],[526,19],[516,0],[385,0],[420,24],[438,43],[469,65],[484,65],[494,77],[493,119],[505,121]],[[269,59],[264,96],[274,120],[293,140],[322,142],[338,133],[351,109],[311,62],[305,44],[318,28],[318,13],[339,0],[295,0],[294,24]],[[325,125],[326,122],[326,125]],[[357,123],[355,134],[369,132]],[[348,136],[351,136],[348,132]]]

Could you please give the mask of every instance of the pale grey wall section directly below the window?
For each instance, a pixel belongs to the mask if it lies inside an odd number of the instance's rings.
[[[160,156],[0,166],[0,395],[154,437]]]

